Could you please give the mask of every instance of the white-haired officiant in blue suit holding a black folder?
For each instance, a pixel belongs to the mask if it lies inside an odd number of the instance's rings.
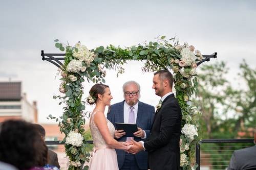
[[[128,81],[123,84],[124,101],[110,106],[107,118],[115,123],[136,124],[138,131],[133,137],[126,137],[123,130],[115,131],[115,138],[118,141],[145,140],[150,135],[153,124],[155,108],[146,103],[140,102],[140,85],[135,81]],[[135,155],[116,150],[118,166],[121,170],[147,169],[147,152],[141,151]]]

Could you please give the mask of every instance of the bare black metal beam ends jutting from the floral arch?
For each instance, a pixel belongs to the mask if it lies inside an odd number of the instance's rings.
[[[41,51],[41,56],[43,61],[48,61],[58,68],[63,66],[63,63],[60,60],[64,60],[64,57],[56,57],[56,56],[65,56],[65,53],[44,53],[44,50]],[[202,64],[205,61],[210,61],[211,58],[217,58],[217,53],[213,53],[211,55],[203,55],[203,59],[197,63],[197,66]]]

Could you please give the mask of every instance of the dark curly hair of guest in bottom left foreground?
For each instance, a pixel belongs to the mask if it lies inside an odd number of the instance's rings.
[[[47,146],[31,123],[7,120],[0,131],[0,161],[20,170],[47,163]]]

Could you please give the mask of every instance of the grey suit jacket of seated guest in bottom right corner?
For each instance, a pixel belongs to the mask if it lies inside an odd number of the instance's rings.
[[[228,166],[228,170],[233,169],[256,169],[256,145],[241,150],[234,151]]]

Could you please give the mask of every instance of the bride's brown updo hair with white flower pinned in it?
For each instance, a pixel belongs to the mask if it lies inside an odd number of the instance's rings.
[[[109,88],[109,86],[104,84],[95,84],[92,86],[91,90],[89,91],[89,97],[87,98],[87,103],[89,105],[93,105],[98,100],[98,94],[104,94],[105,88]]]

